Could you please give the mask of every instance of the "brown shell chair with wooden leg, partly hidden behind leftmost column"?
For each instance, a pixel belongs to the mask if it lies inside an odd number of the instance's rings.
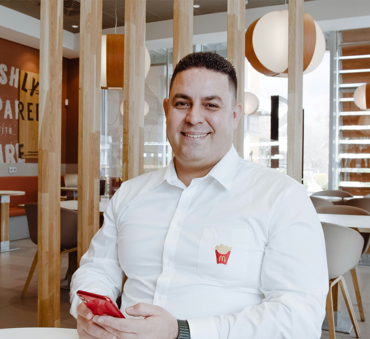
[[[37,204],[25,204],[28,231],[31,241],[37,245]],[[77,211],[67,208],[60,208],[60,256],[64,253],[77,251]],[[28,272],[26,283],[21,294],[21,298],[26,295],[33,273],[37,265],[37,253]],[[67,279],[67,276],[65,277]]]

